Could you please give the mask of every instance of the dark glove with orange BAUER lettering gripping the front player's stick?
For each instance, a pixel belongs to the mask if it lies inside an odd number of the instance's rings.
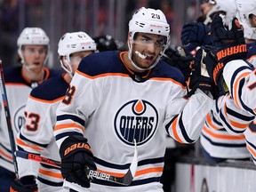
[[[69,136],[60,146],[60,172],[68,182],[75,182],[83,188],[90,188],[92,177],[88,170],[96,170],[92,149],[81,136]]]

